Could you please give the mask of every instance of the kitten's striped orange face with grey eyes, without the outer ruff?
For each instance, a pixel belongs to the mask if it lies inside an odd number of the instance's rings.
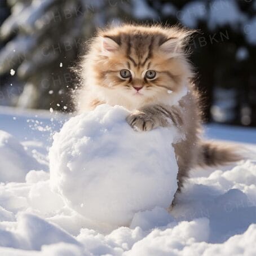
[[[179,92],[188,64],[180,58],[179,38],[150,30],[130,30],[98,38],[96,83],[106,95],[149,103]]]

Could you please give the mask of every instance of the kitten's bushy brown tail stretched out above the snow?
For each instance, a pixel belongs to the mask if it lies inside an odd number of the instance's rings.
[[[246,149],[240,145],[237,147],[239,148],[227,143],[201,141],[197,164],[200,166],[227,165],[245,159],[245,154],[242,152]]]

